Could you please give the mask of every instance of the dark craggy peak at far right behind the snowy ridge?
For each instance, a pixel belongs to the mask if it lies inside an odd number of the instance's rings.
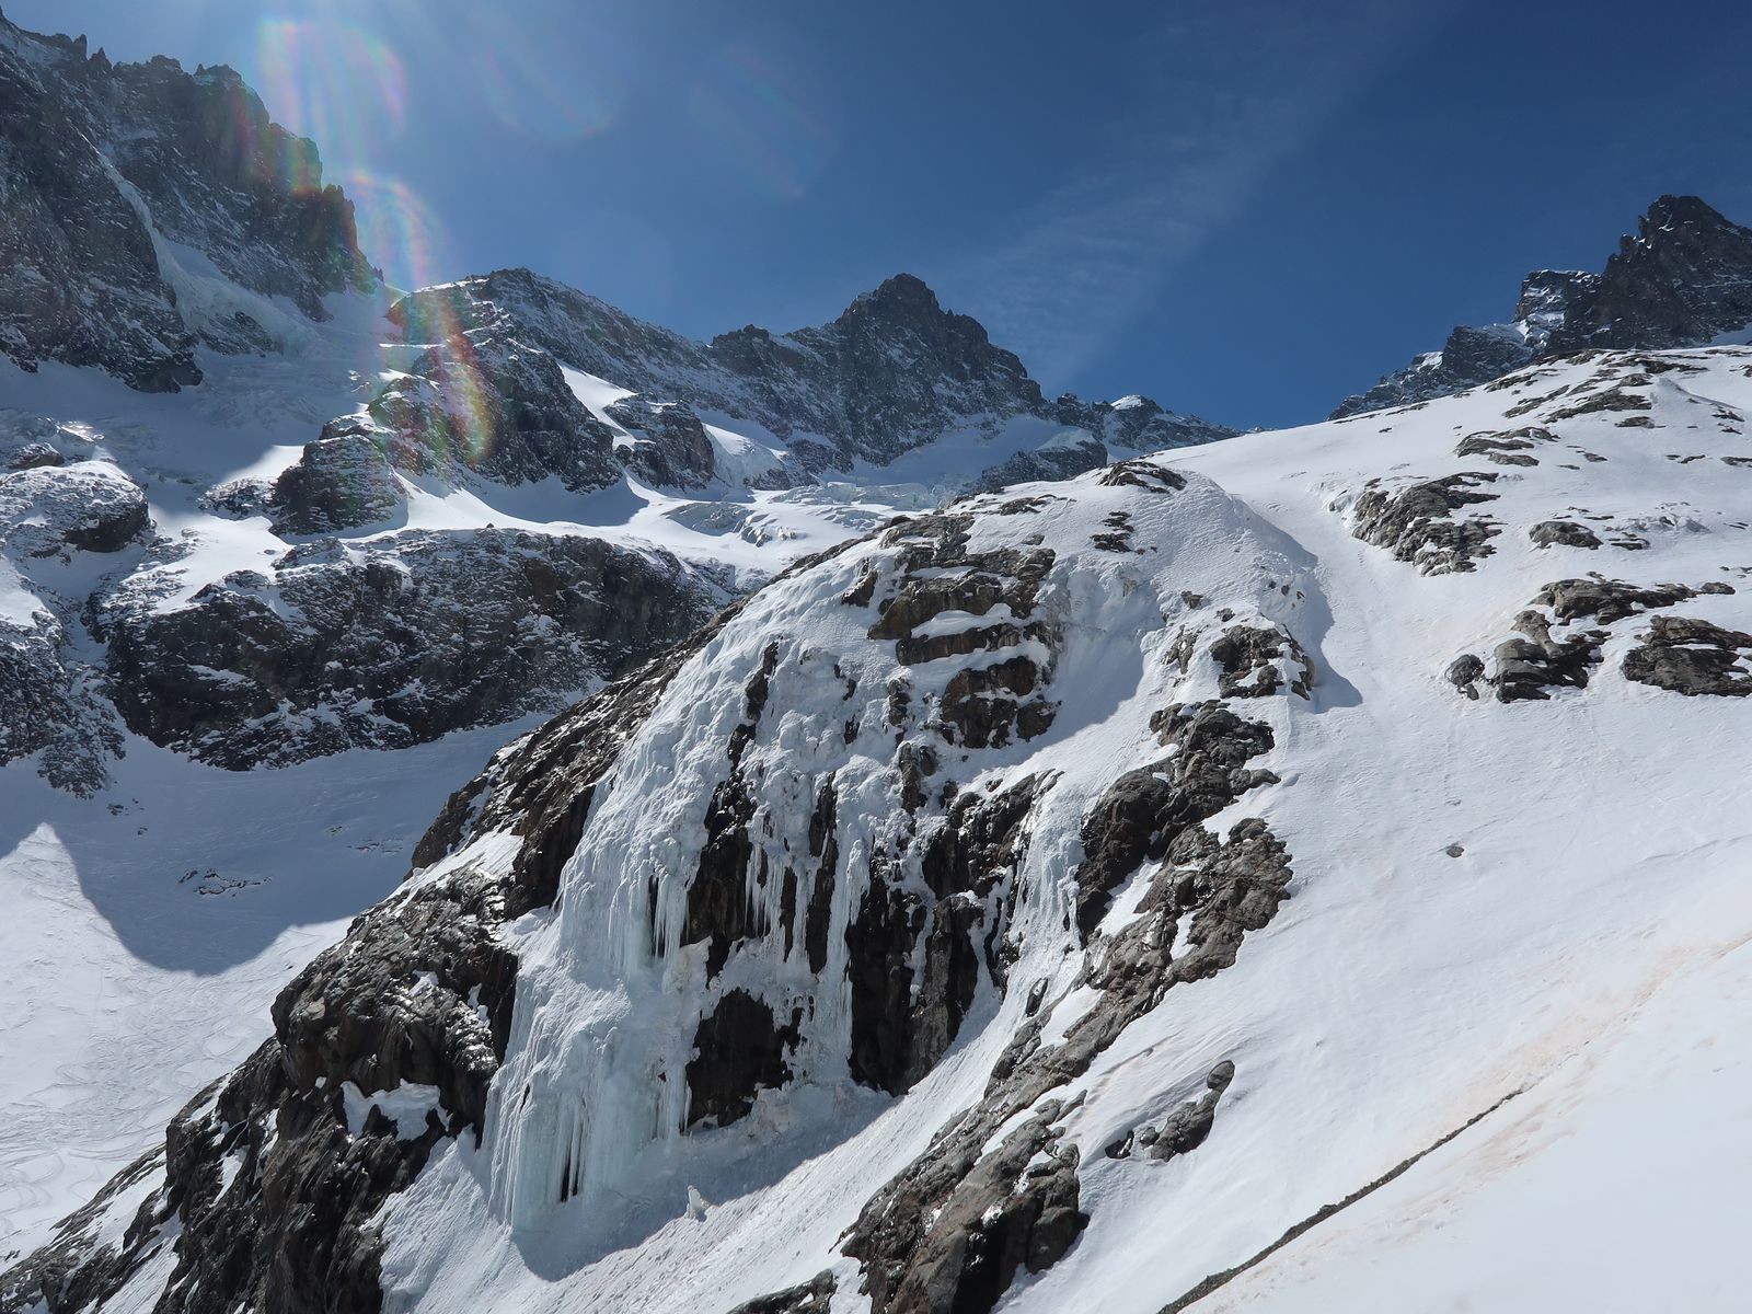
[[[1332,419],[1461,392],[1531,361],[1594,347],[1661,350],[1752,340],[1752,228],[1696,196],[1659,196],[1603,273],[1540,270],[1521,284],[1514,319],[1456,328]]]

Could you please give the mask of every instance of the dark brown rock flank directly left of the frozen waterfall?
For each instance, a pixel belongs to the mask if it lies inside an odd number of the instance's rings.
[[[464,864],[356,920],[275,1000],[273,1039],[179,1114],[165,1149],[107,1188],[163,1181],[121,1242],[95,1235],[100,1197],[88,1219],[70,1219],[54,1244],[0,1277],[0,1307],[98,1305],[170,1244],[175,1219],[166,1307],[378,1310],[382,1235],[371,1216],[442,1137],[482,1132],[517,983],[498,929],[554,899],[596,780],[711,632],[501,752],[420,853],[438,860],[478,827],[519,836],[512,862]],[[429,1109],[424,1120],[406,1113],[410,1093]],[[226,1174],[228,1162],[238,1170]]]

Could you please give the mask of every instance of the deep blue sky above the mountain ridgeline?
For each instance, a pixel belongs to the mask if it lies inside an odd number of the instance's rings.
[[[1314,419],[1663,191],[1752,223],[1752,5],[7,0],[230,63],[398,279],[694,336],[909,270],[1049,391]]]

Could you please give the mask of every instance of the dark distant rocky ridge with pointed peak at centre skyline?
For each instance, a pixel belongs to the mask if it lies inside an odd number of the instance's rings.
[[[774,335],[762,328],[697,343],[527,270],[499,270],[415,293],[408,322],[478,322],[494,314],[522,342],[554,359],[631,387],[636,415],[615,419],[646,436],[629,459],[659,482],[697,487],[711,473],[692,412],[753,420],[788,443],[771,485],[811,482],[853,461],[887,464],[944,434],[993,431],[1016,415],[1083,427],[1090,438],[1009,470],[1018,478],[1081,473],[1106,461],[1107,447],[1184,447],[1233,434],[1197,417],[1174,415],[1144,398],[1086,403],[1048,401],[1021,361],[995,347],[978,321],[944,310],[923,282],[897,275],[857,298],[818,328]],[[427,340],[417,336],[413,340]],[[669,417],[661,403],[680,403]],[[988,471],[983,482],[1002,478]]]

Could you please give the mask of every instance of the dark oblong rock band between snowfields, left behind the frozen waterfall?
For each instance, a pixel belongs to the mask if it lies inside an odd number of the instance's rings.
[[[666,554],[510,529],[287,552],[186,604],[117,599],[130,729],[231,769],[396,748],[550,708],[685,636],[722,597]]]

